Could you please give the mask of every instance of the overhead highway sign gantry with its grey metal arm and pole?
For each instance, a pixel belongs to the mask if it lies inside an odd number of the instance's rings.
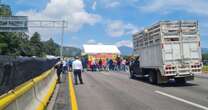
[[[28,20],[27,16],[0,16],[0,32],[28,32],[29,28],[61,29],[60,56],[63,57],[64,30],[68,28],[65,20]]]

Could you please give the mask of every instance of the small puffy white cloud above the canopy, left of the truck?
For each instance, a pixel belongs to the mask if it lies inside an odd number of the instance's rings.
[[[114,20],[107,23],[106,32],[111,37],[121,37],[123,35],[133,34],[138,27],[133,24],[125,24],[123,21]]]

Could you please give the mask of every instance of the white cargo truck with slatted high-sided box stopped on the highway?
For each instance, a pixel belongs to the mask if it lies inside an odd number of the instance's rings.
[[[160,21],[134,34],[141,71],[130,69],[131,78],[147,76],[156,84],[193,80],[194,73],[202,71],[199,36],[197,21]]]

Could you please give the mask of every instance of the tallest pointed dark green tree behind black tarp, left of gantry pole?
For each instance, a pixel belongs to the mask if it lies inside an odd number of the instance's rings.
[[[40,40],[40,34],[35,32],[30,38],[31,53],[33,56],[42,57],[44,56],[43,43]]]

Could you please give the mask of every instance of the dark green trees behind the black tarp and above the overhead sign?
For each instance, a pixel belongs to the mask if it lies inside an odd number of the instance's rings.
[[[12,16],[9,6],[0,6],[0,16]],[[0,33],[0,55],[10,56],[38,56],[59,55],[60,46],[52,39],[42,42],[39,33],[32,37],[23,32]]]

